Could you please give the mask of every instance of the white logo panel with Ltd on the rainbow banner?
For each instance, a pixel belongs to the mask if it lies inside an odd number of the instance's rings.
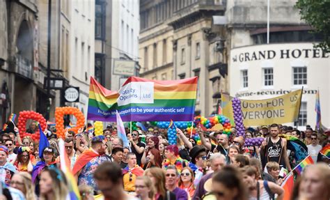
[[[119,91],[118,106],[130,103],[154,103],[153,82],[130,82]]]

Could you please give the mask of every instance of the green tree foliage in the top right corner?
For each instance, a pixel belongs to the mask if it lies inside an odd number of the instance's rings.
[[[298,0],[296,3],[301,20],[313,27],[314,33],[320,33],[323,41],[316,45],[330,51],[330,0]]]

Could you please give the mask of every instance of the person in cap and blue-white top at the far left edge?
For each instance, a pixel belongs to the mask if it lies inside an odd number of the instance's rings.
[[[8,148],[6,146],[0,146],[0,177],[5,181],[8,186],[10,179],[17,172],[15,166],[7,161]]]

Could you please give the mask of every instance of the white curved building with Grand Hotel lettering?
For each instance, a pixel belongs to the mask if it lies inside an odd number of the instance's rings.
[[[329,53],[313,48],[322,38],[300,20],[295,1],[272,1],[269,44],[266,1],[227,3],[230,95],[260,100],[304,87],[299,118],[288,123],[304,129],[315,127],[320,91],[322,123],[329,127]]]

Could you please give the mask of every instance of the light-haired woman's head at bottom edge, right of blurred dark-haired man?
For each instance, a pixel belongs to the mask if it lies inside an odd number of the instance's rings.
[[[141,200],[154,199],[155,189],[148,176],[139,176],[136,178],[135,193]]]

